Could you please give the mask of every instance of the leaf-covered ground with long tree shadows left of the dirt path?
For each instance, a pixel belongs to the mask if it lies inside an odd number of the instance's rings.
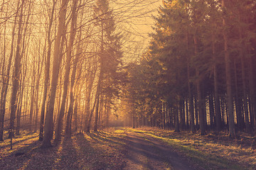
[[[0,142],[0,169],[122,169],[123,138],[123,131],[78,133],[58,146],[41,149],[38,133],[23,132],[14,138],[13,150],[9,140]]]

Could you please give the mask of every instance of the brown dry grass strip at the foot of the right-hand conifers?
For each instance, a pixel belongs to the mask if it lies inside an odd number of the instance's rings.
[[[152,135],[169,139],[172,144],[177,144],[185,149],[193,149],[204,153],[209,159],[226,159],[231,164],[238,164],[244,169],[256,169],[256,149],[254,148],[254,137],[239,133],[237,139],[230,139],[227,132],[208,132],[201,136],[199,133],[174,132],[174,130],[160,130],[158,128],[138,128]],[[235,168],[234,168],[235,169]]]

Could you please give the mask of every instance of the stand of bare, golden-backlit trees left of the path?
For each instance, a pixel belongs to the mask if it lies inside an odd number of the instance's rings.
[[[0,140],[4,130],[39,131],[49,147],[53,131],[58,143],[63,130],[107,127],[123,69],[140,51],[130,47],[130,18],[146,17],[152,3],[3,1]]]

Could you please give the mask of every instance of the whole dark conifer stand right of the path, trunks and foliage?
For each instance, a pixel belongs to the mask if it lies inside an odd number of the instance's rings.
[[[132,125],[254,133],[255,9],[255,1],[164,1],[129,71]]]

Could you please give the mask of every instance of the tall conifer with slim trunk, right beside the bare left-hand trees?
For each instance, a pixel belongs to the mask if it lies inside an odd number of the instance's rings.
[[[120,64],[120,58],[122,57],[122,52],[120,50],[120,35],[115,33],[115,23],[114,14],[109,6],[109,1],[99,0],[96,2],[95,13],[98,17],[97,25],[100,27],[100,52],[99,52],[99,64],[100,73],[97,82],[97,92],[96,92],[96,108],[95,108],[95,125],[94,130],[97,131],[98,119],[99,119],[99,109],[100,109],[100,98],[104,98],[104,94],[111,96],[113,92],[114,84],[118,86],[119,77],[117,77],[117,72],[119,70],[118,66]],[[122,73],[118,73],[122,74]],[[107,79],[107,81],[105,81]]]

